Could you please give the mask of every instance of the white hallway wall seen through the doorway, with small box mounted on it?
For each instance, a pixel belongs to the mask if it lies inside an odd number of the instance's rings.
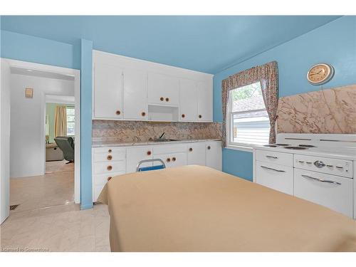
[[[33,98],[25,98],[25,88],[33,88]],[[45,172],[47,94],[74,95],[74,81],[11,74],[11,178]]]

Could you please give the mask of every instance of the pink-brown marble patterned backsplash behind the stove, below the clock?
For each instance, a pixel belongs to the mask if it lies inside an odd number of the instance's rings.
[[[278,132],[356,133],[356,85],[279,99]]]

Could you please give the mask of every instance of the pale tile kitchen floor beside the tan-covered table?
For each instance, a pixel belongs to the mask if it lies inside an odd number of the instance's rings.
[[[76,204],[11,214],[0,226],[2,251],[110,251],[108,206]]]

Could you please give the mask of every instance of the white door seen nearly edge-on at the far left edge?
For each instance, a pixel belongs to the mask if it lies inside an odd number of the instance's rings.
[[[9,216],[10,66],[0,58],[0,224]]]

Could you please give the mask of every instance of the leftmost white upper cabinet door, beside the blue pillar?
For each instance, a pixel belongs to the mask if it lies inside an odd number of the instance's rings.
[[[95,64],[94,117],[122,119],[122,68]]]

